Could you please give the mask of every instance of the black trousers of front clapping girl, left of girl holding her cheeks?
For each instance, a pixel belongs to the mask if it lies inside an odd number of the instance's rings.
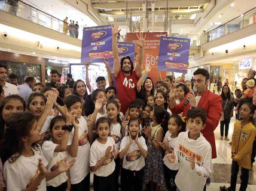
[[[104,177],[93,175],[94,191],[115,191],[115,172]],[[72,190],[73,191],[73,190]]]

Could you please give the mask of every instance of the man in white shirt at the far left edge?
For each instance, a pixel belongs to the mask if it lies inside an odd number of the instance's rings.
[[[5,82],[7,80],[7,70],[5,65],[0,64],[0,85],[4,89],[5,96],[9,96],[11,94],[19,94],[17,86]]]

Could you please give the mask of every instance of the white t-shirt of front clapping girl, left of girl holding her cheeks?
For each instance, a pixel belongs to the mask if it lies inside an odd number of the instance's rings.
[[[107,142],[105,144],[100,143],[97,139],[93,142],[90,150],[90,166],[95,166],[97,162],[105,155],[108,146],[112,146],[111,151],[113,151],[113,145],[115,141],[112,137],[107,137]],[[115,161],[113,160],[112,153],[110,153],[109,158],[105,160],[104,164],[95,172],[97,176],[106,177],[112,174],[115,170]]]

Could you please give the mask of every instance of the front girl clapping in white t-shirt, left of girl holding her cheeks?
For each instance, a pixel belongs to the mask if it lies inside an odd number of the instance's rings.
[[[108,118],[100,117],[96,121],[97,138],[90,150],[90,166],[94,173],[94,191],[115,190],[115,162],[118,151],[114,139],[110,135],[111,122]]]

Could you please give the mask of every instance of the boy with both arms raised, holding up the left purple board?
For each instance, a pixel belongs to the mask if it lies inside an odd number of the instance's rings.
[[[104,64],[105,67],[107,69],[107,78],[109,79],[109,86],[113,86],[113,77],[112,77],[112,73],[111,73],[111,68],[109,65],[109,62],[106,61],[106,59],[104,59]],[[86,73],[85,73],[85,82],[86,82],[86,86],[89,89],[89,91],[92,93],[94,91],[93,87],[90,84],[90,80],[89,80],[89,74],[88,74],[88,68],[89,68],[90,62],[89,61],[85,61],[85,68],[86,68]],[[96,84],[97,84],[97,88],[102,89],[102,91],[105,91],[106,89],[106,79],[103,76],[99,76],[96,79]]]

